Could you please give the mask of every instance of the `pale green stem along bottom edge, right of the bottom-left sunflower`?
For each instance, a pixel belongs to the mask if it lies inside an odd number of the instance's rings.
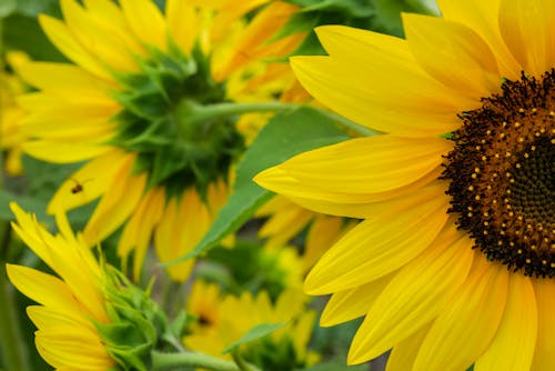
[[[196,352],[152,352],[152,370],[170,370],[178,367],[203,368],[214,371],[241,371],[233,362]]]

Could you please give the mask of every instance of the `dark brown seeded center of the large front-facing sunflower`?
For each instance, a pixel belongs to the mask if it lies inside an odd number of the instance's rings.
[[[490,260],[554,278],[555,70],[505,80],[482,103],[452,137],[450,212]]]

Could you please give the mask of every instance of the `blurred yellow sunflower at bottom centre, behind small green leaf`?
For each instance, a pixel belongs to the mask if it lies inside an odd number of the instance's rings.
[[[306,350],[315,312],[305,310],[306,295],[285,289],[272,303],[265,291],[240,297],[224,294],[213,283],[196,280],[186,307],[196,317],[183,343],[193,351],[222,357],[222,351],[259,324],[287,322],[266,338],[246,343],[240,352],[245,360],[273,370],[292,370],[313,363],[317,355]],[[231,358],[229,354],[226,358]]]

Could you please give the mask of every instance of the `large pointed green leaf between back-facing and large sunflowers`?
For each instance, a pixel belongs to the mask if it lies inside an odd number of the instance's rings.
[[[209,232],[192,252],[164,265],[198,257],[215,247],[270,200],[273,194],[252,181],[255,174],[297,153],[334,144],[347,138],[332,118],[313,108],[276,114],[261,130],[238,164],[233,193],[220,210]]]

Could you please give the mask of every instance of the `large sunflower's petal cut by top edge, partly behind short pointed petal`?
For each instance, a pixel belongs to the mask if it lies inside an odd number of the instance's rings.
[[[438,0],[443,17],[476,31],[495,54],[501,76],[518,79],[521,66],[508,51],[500,32],[500,0]]]

